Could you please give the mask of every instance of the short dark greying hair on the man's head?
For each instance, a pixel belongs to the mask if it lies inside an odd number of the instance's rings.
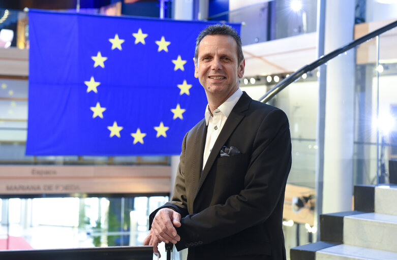
[[[233,29],[233,27],[227,24],[214,24],[214,25],[209,25],[205,29],[203,29],[197,37],[196,49],[194,51],[194,59],[196,60],[196,64],[197,64],[199,45],[201,43],[201,40],[207,35],[226,35],[233,37],[233,39],[236,41],[237,44],[238,64],[240,64],[241,60],[244,59],[244,54],[242,53],[242,49],[241,49],[241,38],[237,34],[237,31]]]

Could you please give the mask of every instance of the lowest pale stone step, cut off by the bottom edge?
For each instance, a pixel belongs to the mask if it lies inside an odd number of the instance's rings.
[[[351,245],[336,245],[316,252],[316,260],[395,260],[397,253],[362,248]]]

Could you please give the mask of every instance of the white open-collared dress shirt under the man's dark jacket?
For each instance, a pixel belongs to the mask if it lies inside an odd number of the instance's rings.
[[[212,150],[215,141],[221,133],[223,126],[225,125],[226,119],[230,115],[230,112],[236,105],[237,101],[242,95],[242,90],[238,88],[222,105],[213,111],[209,110],[209,105],[205,109],[205,123],[208,125],[207,136],[205,138],[204,156],[203,156],[203,169],[207,163],[209,153]],[[220,151],[218,151],[219,153]]]

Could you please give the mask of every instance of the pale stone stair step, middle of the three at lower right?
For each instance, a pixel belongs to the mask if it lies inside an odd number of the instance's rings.
[[[343,243],[397,252],[397,216],[380,213],[345,216]]]

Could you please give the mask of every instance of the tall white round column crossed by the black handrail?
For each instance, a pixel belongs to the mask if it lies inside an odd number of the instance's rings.
[[[353,41],[354,1],[326,1],[325,54]],[[352,208],[355,55],[327,63],[323,213]]]

